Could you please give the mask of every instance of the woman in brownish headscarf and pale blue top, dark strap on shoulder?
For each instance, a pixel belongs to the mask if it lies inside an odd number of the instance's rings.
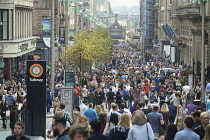
[[[126,140],[154,140],[156,138],[143,111],[136,111],[132,118],[132,124]]]

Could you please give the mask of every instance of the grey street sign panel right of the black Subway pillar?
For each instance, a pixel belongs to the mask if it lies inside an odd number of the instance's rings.
[[[74,101],[74,88],[61,88],[61,103],[66,105],[65,110],[73,116],[73,101]]]

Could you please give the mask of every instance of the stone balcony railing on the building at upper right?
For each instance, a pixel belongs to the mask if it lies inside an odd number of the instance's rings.
[[[188,5],[184,7],[178,7],[176,9],[176,16],[191,16],[191,17],[200,17],[201,16],[201,10],[200,6],[196,5]]]

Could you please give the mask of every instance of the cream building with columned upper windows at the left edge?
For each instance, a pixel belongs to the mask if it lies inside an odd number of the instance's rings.
[[[0,74],[5,79],[25,69],[25,60],[36,49],[33,8],[33,0],[0,1]]]

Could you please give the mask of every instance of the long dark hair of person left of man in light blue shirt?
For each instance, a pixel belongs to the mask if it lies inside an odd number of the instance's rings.
[[[165,135],[165,140],[173,140],[177,132],[178,130],[177,130],[176,125],[173,123],[169,124],[166,135]]]

